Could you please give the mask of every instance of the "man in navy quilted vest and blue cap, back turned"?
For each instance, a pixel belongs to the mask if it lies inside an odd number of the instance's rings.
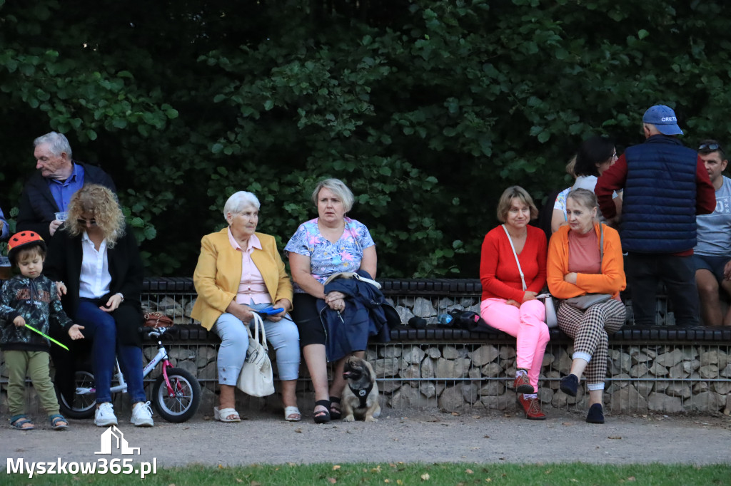
[[[677,325],[698,325],[693,247],[696,215],[716,208],[715,189],[695,150],[675,138],[682,135],[670,107],[651,107],[643,116],[645,142],[629,147],[596,182],[602,214],[617,222],[612,200],[624,189],[619,234],[627,252],[627,286],[635,324],[655,323],[658,282],[673,303]]]

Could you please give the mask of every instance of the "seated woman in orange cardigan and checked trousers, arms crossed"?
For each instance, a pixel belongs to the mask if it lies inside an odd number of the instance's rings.
[[[607,333],[624,324],[626,311],[619,298],[626,288],[619,234],[596,219],[596,196],[575,189],[567,196],[567,219],[551,236],[548,247],[548,288],[554,297],[567,299],[587,293],[610,294],[612,298],[580,310],[562,301],[558,327],[574,339],[569,375],[561,379],[561,391],[576,396],[583,374],[589,390],[588,423],[604,423],[602,395],[607,376]],[[602,245],[603,241],[603,246]]]

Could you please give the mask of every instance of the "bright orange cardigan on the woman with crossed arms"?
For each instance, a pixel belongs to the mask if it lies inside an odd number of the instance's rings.
[[[614,228],[604,226],[604,258],[601,274],[577,274],[576,284],[564,281],[569,273],[569,225],[561,226],[550,237],[546,281],[548,290],[557,298],[583,296],[585,293],[610,293],[619,297],[620,290],[627,286],[624,278],[624,258],[619,234]],[[599,238],[599,223],[594,223],[596,238]]]

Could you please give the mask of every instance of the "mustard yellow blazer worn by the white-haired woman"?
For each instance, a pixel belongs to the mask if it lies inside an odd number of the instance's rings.
[[[273,236],[256,233],[262,250],[254,248],[251,260],[264,277],[272,303],[280,298],[292,301],[292,282],[284,262],[276,248]],[[229,242],[228,227],[218,233],[203,236],[200,241],[200,256],[193,274],[193,284],[198,298],[193,306],[192,317],[199,320],[209,331],[216,320],[236,298],[241,282],[241,253]]]

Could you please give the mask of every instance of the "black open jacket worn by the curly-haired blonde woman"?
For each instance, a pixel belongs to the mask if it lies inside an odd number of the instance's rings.
[[[81,275],[81,235],[69,236],[61,225],[57,231],[58,237],[53,239],[53,244],[48,247],[48,256],[43,267],[43,274],[53,281],[61,281],[66,284],[67,293],[61,297],[61,303],[67,315],[74,319],[79,307],[79,288]],[[104,304],[115,293],[121,292],[124,302],[111,313],[117,323],[117,337],[121,344],[134,344],[140,346],[140,333],[138,329],[142,325],[142,304],[140,294],[142,293],[143,263],[140,258],[140,250],[137,247],[137,240],[132,234],[132,228],[127,225],[125,234],[118,239],[113,248],[107,249],[109,261],[109,273],[112,277],[110,292],[102,297]]]

